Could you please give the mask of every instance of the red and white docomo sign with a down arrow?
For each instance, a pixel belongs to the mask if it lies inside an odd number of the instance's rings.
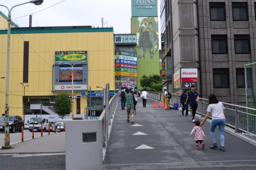
[[[190,88],[193,84],[198,88],[197,68],[181,68],[181,87]]]

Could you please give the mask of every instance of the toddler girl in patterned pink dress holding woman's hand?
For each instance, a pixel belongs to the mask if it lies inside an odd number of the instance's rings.
[[[199,150],[199,143],[202,144],[202,149],[204,149],[204,132],[202,130],[202,128],[200,127],[200,121],[196,120],[195,121],[195,127],[192,129],[191,133],[189,134],[189,136],[192,135],[193,132],[195,133],[195,141],[197,143],[197,150]]]

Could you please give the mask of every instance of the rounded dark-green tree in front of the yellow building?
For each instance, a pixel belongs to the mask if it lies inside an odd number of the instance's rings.
[[[72,111],[72,103],[71,100],[68,99],[68,93],[60,92],[55,97],[55,111],[61,118],[70,114]]]

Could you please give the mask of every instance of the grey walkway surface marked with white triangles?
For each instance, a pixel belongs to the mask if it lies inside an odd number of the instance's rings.
[[[117,108],[109,149],[101,169],[169,169],[210,167],[252,167],[256,169],[256,147],[228,132],[225,152],[212,150],[209,123],[205,123],[205,149],[196,150],[195,126],[191,117],[182,116],[178,110],[154,108],[147,100],[146,108],[138,100],[134,125],[126,122],[126,110]],[[196,117],[200,120],[200,117]],[[220,148],[218,129],[216,137]]]

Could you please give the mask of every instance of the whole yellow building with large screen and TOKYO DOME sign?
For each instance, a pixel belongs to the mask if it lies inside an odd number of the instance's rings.
[[[6,18],[5,18],[6,19]],[[3,16],[0,16],[3,23]],[[6,77],[7,30],[0,26],[0,77]],[[33,114],[31,104],[42,101],[54,108],[54,96],[60,91],[71,95],[70,70],[74,65],[74,95],[101,90],[110,83],[115,90],[113,28],[44,27],[13,28],[10,41],[9,113]],[[85,56],[80,60],[77,56]],[[72,59],[73,56],[73,59]],[[63,59],[63,60],[62,60]],[[60,62],[62,61],[61,65]],[[83,63],[81,63],[83,61]],[[68,63],[68,64],[65,64]],[[25,86],[25,97],[24,86]],[[6,79],[0,79],[0,113],[5,112]],[[95,93],[94,91],[94,93]],[[74,103],[74,114],[84,114],[87,100]]]

